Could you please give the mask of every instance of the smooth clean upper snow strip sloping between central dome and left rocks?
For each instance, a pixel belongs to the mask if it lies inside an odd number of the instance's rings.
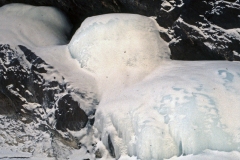
[[[67,45],[41,47],[35,49],[35,52],[46,63],[54,66],[55,70],[61,73],[67,82],[81,89],[82,93],[96,90],[95,77],[90,72],[83,70],[78,61],[71,57]]]

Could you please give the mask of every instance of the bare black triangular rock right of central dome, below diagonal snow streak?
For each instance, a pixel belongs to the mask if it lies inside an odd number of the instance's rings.
[[[225,57],[204,44],[207,40],[194,28],[183,22],[174,27],[176,41],[170,43],[171,59],[178,60],[224,60]]]

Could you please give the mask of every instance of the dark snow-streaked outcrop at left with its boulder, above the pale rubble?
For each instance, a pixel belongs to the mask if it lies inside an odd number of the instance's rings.
[[[71,97],[74,93],[67,91],[64,77],[60,81],[51,74],[56,72],[52,66],[26,47],[18,47],[0,45],[0,113],[40,118],[62,131],[84,128],[88,116]]]

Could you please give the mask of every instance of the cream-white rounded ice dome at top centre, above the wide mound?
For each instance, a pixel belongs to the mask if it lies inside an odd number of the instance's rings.
[[[106,14],[87,18],[73,36],[69,50],[81,66],[98,75],[110,70],[149,72],[169,59],[156,21],[134,14]]]

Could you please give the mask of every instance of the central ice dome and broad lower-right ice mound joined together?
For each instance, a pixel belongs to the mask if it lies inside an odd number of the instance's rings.
[[[97,16],[69,44],[99,81],[103,144],[116,158],[142,160],[240,151],[240,64],[169,61],[158,29],[139,15]]]

